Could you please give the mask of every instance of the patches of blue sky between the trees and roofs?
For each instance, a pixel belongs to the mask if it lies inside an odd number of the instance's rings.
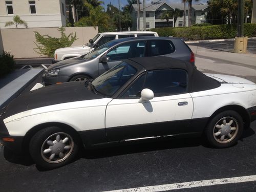
[[[115,7],[118,8],[118,0],[101,0],[102,2],[104,2],[103,7],[106,9],[106,5],[111,4],[114,5]],[[127,0],[119,0],[120,1],[120,10],[122,10],[122,7],[124,7],[127,4]],[[140,0],[140,2],[142,3],[143,0]],[[146,0],[146,5],[151,4],[152,0]],[[167,3],[181,3],[182,0],[166,0]],[[196,1],[192,1],[192,4],[199,4],[199,3],[203,3],[206,4],[207,0],[200,0],[198,2]]]

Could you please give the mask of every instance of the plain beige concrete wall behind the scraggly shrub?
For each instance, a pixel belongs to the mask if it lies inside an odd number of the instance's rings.
[[[36,41],[34,31],[39,32],[41,35],[47,34],[52,37],[60,37],[60,32],[57,29],[58,28],[0,29],[0,51],[2,47],[4,51],[11,52],[15,58],[40,57],[40,54],[33,50],[36,47],[34,44]],[[68,27],[65,29],[67,35],[72,32],[74,35],[76,32],[78,39],[72,46],[84,45],[98,33],[97,27]]]

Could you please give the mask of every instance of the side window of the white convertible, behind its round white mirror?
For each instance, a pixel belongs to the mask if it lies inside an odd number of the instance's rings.
[[[154,97],[187,93],[187,72],[181,69],[148,71],[122,95],[121,98],[140,98],[140,92],[147,88]]]

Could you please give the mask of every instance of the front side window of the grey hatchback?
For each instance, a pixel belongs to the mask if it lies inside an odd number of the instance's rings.
[[[127,42],[113,48],[106,54],[106,56],[110,58],[110,61],[123,60],[132,57],[144,57],[145,47],[145,41]]]

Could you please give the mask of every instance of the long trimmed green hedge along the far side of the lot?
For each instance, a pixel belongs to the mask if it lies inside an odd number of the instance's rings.
[[[193,26],[193,27],[168,27],[151,29],[159,36],[181,37],[184,40],[204,40],[234,38],[237,36],[236,25],[212,25],[212,26]],[[244,24],[244,36],[256,36],[256,24]]]

